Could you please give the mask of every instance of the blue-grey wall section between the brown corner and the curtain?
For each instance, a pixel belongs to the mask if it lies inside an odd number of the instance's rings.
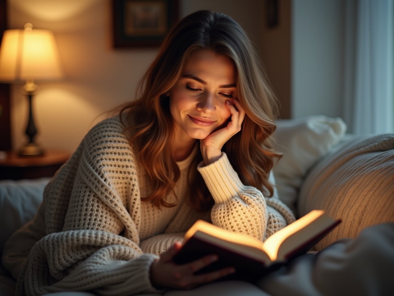
[[[342,116],[344,2],[292,2],[292,118]]]

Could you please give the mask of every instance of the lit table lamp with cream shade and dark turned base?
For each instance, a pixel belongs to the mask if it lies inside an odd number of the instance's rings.
[[[27,23],[24,30],[6,30],[0,48],[0,81],[25,82],[23,90],[29,100],[26,128],[28,143],[20,155],[41,155],[42,148],[34,142],[37,129],[33,120],[32,98],[37,89],[35,81],[50,81],[63,77],[54,35],[49,30],[33,29]]]

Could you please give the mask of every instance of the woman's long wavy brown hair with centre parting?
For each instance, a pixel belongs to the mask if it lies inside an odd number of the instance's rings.
[[[180,171],[171,158],[174,128],[167,94],[180,79],[191,54],[210,50],[229,57],[237,71],[238,100],[245,109],[242,129],[223,146],[243,184],[272,196],[268,182],[274,157],[281,157],[271,146],[275,131],[276,99],[269,86],[256,51],[240,25],[222,13],[197,11],[180,20],[165,37],[156,59],[138,84],[137,100],[125,105],[121,118],[130,133],[130,143],[138,150],[138,160],[145,167],[153,193],[141,197],[160,206],[174,206],[164,197],[174,192]],[[212,204],[197,164],[203,159],[197,153],[188,173],[190,200],[196,210],[207,210]]]

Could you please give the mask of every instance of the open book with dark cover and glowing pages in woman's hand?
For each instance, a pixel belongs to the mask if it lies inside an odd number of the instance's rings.
[[[219,260],[198,273],[233,266],[236,273],[232,278],[253,281],[309,251],[340,222],[331,219],[323,210],[313,210],[263,243],[246,234],[198,220],[186,232],[184,244],[173,260],[185,264],[204,255],[217,254]]]

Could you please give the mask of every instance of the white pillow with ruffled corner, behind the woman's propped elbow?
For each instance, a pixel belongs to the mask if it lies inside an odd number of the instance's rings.
[[[341,118],[324,115],[277,120],[275,149],[283,157],[273,168],[281,199],[297,216],[296,202],[300,185],[308,170],[337,144],[346,132]]]

